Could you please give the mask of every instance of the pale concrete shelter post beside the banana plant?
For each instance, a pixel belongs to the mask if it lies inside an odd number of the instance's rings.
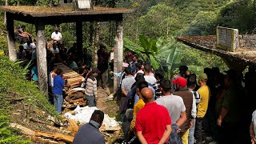
[[[122,21],[116,21],[116,38],[114,38],[114,73],[122,71],[123,58]],[[118,90],[120,78],[114,77],[114,92]]]

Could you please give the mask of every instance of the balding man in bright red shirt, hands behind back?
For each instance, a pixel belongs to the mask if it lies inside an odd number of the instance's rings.
[[[146,105],[138,111],[136,131],[142,144],[158,144],[167,142],[171,133],[170,115],[166,107],[154,102],[150,88],[141,90],[142,99]]]

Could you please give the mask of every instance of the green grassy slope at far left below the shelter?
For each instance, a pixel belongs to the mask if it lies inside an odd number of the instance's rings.
[[[30,106],[31,110],[42,110],[55,118],[58,116],[54,107],[50,105],[48,99],[38,90],[38,87],[33,82],[26,81],[26,70],[22,70],[18,63],[14,64],[9,61],[8,57],[0,56],[0,67],[0,143],[6,138],[6,143],[19,142],[19,138],[15,139],[14,137],[14,130],[11,130],[6,125],[9,122],[6,115],[11,114],[12,110],[15,110],[14,105],[7,101],[7,99],[24,98],[22,103],[25,106]],[[2,122],[4,122],[3,125]],[[8,134],[2,133],[2,129],[9,130]]]

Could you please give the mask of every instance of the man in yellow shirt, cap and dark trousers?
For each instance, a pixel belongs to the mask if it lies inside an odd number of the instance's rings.
[[[202,119],[206,115],[206,111],[208,108],[208,102],[210,99],[210,89],[206,85],[208,77],[205,73],[200,74],[198,78],[198,83],[200,84],[200,88],[198,89],[198,93],[200,94],[200,102],[198,103],[198,114],[195,122],[195,139],[197,144],[202,143]]]

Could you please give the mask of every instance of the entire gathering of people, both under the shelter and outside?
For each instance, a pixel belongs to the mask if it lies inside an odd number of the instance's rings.
[[[24,61],[22,66],[31,60],[28,78],[37,83],[36,40],[32,42],[25,27],[16,26],[14,32],[21,44],[17,56]],[[83,77],[81,87],[85,88],[88,106],[96,106],[98,86],[106,90],[108,74],[120,77],[118,100],[125,142],[240,144],[256,140],[254,66],[250,66],[244,78],[236,70],[222,74],[213,67],[196,75],[187,66],[180,66],[179,73],[170,80],[165,78],[163,70],[154,70],[150,62],[143,62],[137,54],[128,51],[122,71],[114,73],[114,48],[108,51],[101,45],[97,53],[98,66],[93,69],[92,55],[84,50],[83,58],[78,58],[76,43],[67,49],[58,28],[51,34],[46,51],[50,95],[59,114],[62,113],[62,88],[69,85],[54,62],[65,63]],[[94,113],[89,124],[80,128],[74,143],[103,143],[102,135],[97,132],[102,125],[102,112]],[[94,131],[95,136],[81,141],[87,138],[82,135],[87,130]],[[89,140],[93,138],[95,140]]]

